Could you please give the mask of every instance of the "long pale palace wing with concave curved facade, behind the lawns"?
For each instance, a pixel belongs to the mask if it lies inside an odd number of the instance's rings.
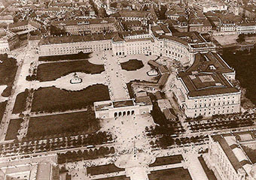
[[[192,61],[197,52],[215,50],[209,42],[190,42],[172,36],[166,25],[152,26],[149,31],[121,31],[83,36],[45,37],[38,44],[40,56],[112,50],[113,55],[160,55]]]

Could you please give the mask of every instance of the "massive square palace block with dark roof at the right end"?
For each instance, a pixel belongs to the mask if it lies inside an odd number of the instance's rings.
[[[239,113],[241,91],[233,86],[235,76],[235,71],[217,53],[198,53],[194,64],[178,74],[178,104],[191,118]]]

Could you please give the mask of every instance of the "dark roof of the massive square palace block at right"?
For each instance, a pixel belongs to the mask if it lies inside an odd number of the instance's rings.
[[[223,75],[233,72],[220,55],[208,52],[198,53],[194,64],[187,71],[181,71],[178,77],[186,86],[188,95],[196,97],[239,92]]]

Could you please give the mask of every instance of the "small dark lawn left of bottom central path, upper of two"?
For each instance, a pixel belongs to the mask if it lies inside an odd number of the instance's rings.
[[[115,166],[114,163],[102,165],[102,166],[87,167],[87,174],[90,174],[90,175],[99,175],[99,174],[120,172],[120,171],[124,171],[124,169]]]

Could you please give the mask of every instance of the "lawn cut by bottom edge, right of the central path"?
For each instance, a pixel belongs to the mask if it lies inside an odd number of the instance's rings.
[[[173,169],[164,169],[158,171],[151,171],[148,175],[149,180],[192,180],[187,169],[182,167]]]

